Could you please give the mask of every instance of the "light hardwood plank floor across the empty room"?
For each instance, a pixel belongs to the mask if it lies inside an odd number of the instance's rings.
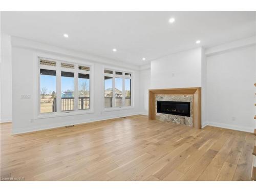
[[[256,136],[136,115],[11,135],[1,124],[1,177],[25,180],[250,180]]]

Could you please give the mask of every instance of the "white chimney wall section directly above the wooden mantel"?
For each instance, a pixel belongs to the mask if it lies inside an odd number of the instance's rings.
[[[151,61],[151,89],[201,87],[202,49]]]

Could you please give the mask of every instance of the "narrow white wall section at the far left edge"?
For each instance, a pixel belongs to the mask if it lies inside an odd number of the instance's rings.
[[[12,121],[12,58],[11,37],[1,33],[1,119]]]

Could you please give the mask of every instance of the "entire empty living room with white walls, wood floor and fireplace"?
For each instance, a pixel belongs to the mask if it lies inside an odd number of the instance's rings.
[[[1,180],[255,181],[255,75],[255,11],[1,11]]]

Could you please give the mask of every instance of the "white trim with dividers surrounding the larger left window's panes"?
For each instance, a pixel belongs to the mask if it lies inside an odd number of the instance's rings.
[[[53,59],[53,58],[55,58],[55,59]],[[39,59],[48,59],[48,60],[56,61],[56,67],[40,66]],[[35,54],[34,61],[36,62],[34,65],[34,66],[36,66],[36,68],[34,70],[34,71],[36,71],[36,73],[34,74],[34,78],[35,78],[34,82],[36,82],[36,87],[35,87],[36,91],[34,92],[36,95],[36,99],[34,99],[36,113],[34,115],[34,119],[53,118],[53,117],[61,117],[61,116],[71,116],[71,115],[82,115],[82,114],[94,113],[94,81],[93,81],[93,79],[94,79],[94,64],[93,63],[88,63],[88,62],[84,62],[84,61],[76,60],[76,59],[69,59],[66,57],[47,55],[47,54]],[[87,66],[87,67],[90,67],[90,71],[61,68],[60,67],[61,62],[73,64],[73,65],[75,65],[75,68],[76,67],[78,68],[78,66]],[[76,90],[77,86],[75,86],[75,84],[74,84],[74,87],[75,87],[74,111],[61,111],[61,103],[57,102],[57,112],[40,113],[40,69],[56,70],[56,92],[57,92],[56,98],[57,98],[57,101],[61,99],[61,82],[60,82],[61,81],[61,71],[74,72],[74,73],[76,72],[75,77],[74,77],[75,83],[78,83],[78,73],[89,74],[90,75],[90,85],[89,85],[90,86],[90,109],[89,110],[78,110],[78,105],[76,104],[78,102],[78,91]],[[76,97],[77,97],[77,99],[76,99]]]

